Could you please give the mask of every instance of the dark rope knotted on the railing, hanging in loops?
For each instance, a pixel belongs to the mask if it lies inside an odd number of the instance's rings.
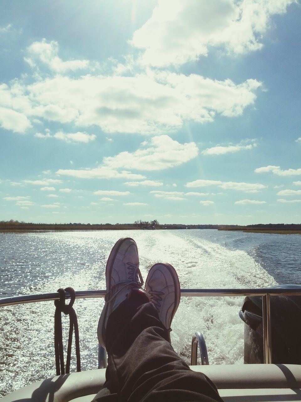
[[[71,345],[74,328],[75,337],[75,353],[76,353],[76,367],[77,371],[81,371],[81,359],[79,353],[79,334],[78,324],[75,311],[73,309],[73,303],[75,300],[75,291],[72,287],[66,287],[66,289],[58,289],[60,294],[58,300],[55,300],[55,315],[54,315],[54,349],[55,349],[55,367],[57,369],[57,375],[65,374],[64,368],[64,351],[63,351],[63,334],[62,334],[62,318],[61,313],[69,315],[69,336],[67,347],[67,361],[66,361],[66,374],[70,373],[70,361],[71,361]],[[66,294],[70,294],[70,303],[65,304]]]

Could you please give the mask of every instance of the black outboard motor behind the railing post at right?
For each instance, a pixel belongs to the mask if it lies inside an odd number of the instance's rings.
[[[300,288],[281,285],[273,288]],[[301,296],[271,296],[272,363],[301,364]],[[244,321],[244,363],[263,363],[262,297],[247,296]]]

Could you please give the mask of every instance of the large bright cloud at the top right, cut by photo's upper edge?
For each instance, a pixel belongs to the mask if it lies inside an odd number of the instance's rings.
[[[213,46],[237,54],[256,51],[271,16],[286,12],[292,2],[159,0],[130,43],[143,49],[141,64],[159,67],[197,60]]]

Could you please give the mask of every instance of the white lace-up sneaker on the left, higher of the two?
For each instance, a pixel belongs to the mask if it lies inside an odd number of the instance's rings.
[[[97,328],[98,341],[103,347],[106,347],[106,326],[109,315],[130,295],[133,289],[143,291],[142,285],[137,244],[131,238],[119,239],[112,248],[106,265],[107,293]]]

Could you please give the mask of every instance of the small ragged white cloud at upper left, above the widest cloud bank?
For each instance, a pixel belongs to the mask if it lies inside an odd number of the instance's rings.
[[[41,42],[33,42],[26,50],[28,57],[24,57],[24,60],[32,68],[36,67],[37,64],[43,63],[50,70],[63,74],[67,71],[85,69],[89,65],[88,60],[69,60],[63,62],[63,60],[57,55],[59,45],[56,41],[47,43],[46,39],[42,39]]]

